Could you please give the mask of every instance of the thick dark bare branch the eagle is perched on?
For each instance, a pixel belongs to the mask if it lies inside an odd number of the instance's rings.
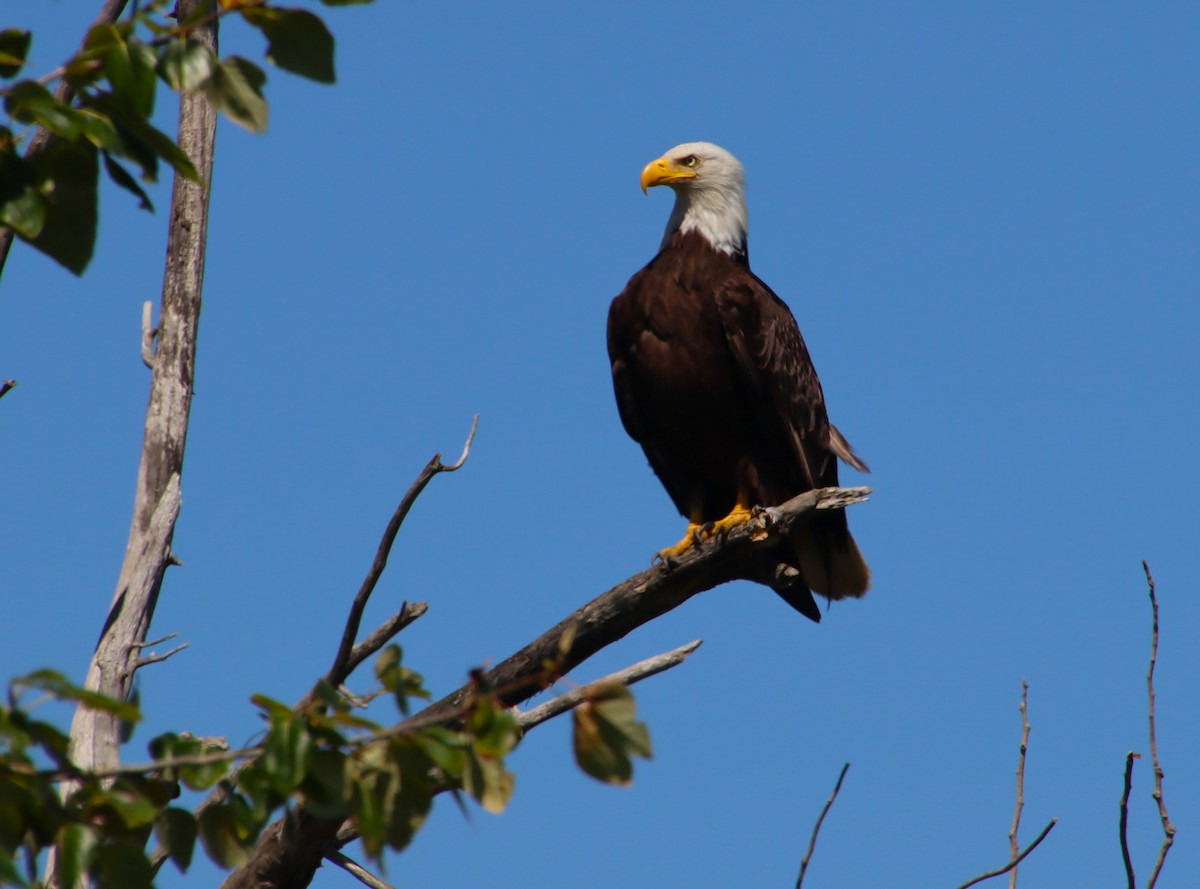
[[[460,461],[461,463],[461,461]],[[487,671],[485,679],[497,697],[512,707],[552,684],[606,645],[638,626],[678,607],[697,593],[746,575],[754,576],[755,557],[778,545],[797,522],[816,510],[844,509],[862,503],[870,488],[820,488],[787,503],[762,510],[724,537],[706,541],[678,561],[658,564],[577,609],[516,654]],[[570,644],[565,647],[564,641]],[[546,669],[553,663],[554,674]],[[394,731],[412,731],[458,719],[470,685],[448,695]],[[342,837],[341,821],[318,819],[296,811],[270,824],[259,836],[246,864],[229,875],[224,889],[296,889],[308,885],[325,852]]]

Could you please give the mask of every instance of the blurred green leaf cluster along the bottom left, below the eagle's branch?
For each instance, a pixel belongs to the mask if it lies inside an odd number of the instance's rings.
[[[407,715],[412,698],[430,697],[396,644],[379,654],[374,672],[379,686],[367,699],[390,695]],[[349,821],[366,854],[382,865],[384,849],[412,842],[439,793],[454,794],[460,805],[474,799],[494,813],[508,805],[515,776],[505,757],[522,732],[515,710],[480,677],[474,674],[452,726],[388,728],[362,715],[362,698],[323,681],[304,710],[253,696],[265,728],[252,747],[229,750],[223,739],[167,733],[149,743],[152,762],[107,774],[72,764],[67,737],[32,716],[29,693],[100,708],[126,723],[140,720],[138,707],[50,671],[23,677],[0,705],[0,885],[40,885],[38,860],[53,847],[60,885],[86,877],[101,889],[150,887],[151,837],[180,871],[191,866],[197,843],[232,869],[248,859],[281,812],[301,811]],[[629,783],[629,757],[649,756],[650,747],[628,689],[610,683],[586,696],[575,746],[589,775]],[[68,789],[60,795],[61,781]],[[176,801],[186,791],[212,788],[220,788],[216,801],[199,815]]]

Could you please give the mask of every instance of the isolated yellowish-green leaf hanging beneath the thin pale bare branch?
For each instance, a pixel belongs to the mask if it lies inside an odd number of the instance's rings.
[[[601,686],[575,708],[575,761],[583,771],[611,785],[634,780],[630,757],[653,753],[649,732],[636,713],[634,696],[619,684]]]

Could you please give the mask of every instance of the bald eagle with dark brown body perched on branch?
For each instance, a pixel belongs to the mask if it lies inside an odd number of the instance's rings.
[[[642,170],[674,209],[658,256],[608,311],[608,359],[622,422],[688,533],[664,558],[816,487],[838,459],[869,471],[829,422],[796,318],[750,271],[745,174],[725,149],[678,145]],[[812,593],[862,596],[870,570],[842,510],[821,512],[779,552],[772,585],[812,620]]]

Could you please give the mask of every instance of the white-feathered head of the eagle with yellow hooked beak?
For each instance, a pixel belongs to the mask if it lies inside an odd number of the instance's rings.
[[[738,158],[710,142],[685,142],[646,164],[642,191],[655,185],[670,185],[676,193],[664,247],[676,232],[698,232],[715,250],[745,254],[746,179]]]

